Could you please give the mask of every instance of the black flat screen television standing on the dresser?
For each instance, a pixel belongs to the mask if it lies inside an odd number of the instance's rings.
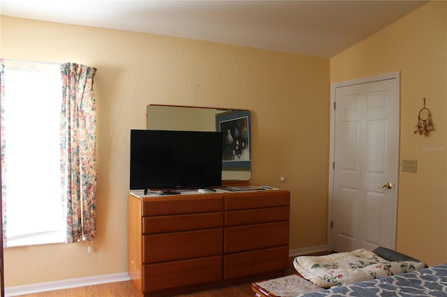
[[[222,134],[131,130],[130,169],[131,190],[221,186]]]

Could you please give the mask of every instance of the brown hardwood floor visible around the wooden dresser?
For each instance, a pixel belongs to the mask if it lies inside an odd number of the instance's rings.
[[[330,252],[318,252],[312,255],[330,254]],[[295,273],[293,268],[293,258],[289,260],[289,267],[286,275]],[[49,291],[36,294],[22,295],[22,297],[130,297],[138,296],[133,289],[131,282],[113,282],[110,284],[97,284],[88,287],[79,287],[73,289],[64,289],[59,291]],[[240,284],[238,286],[223,287],[220,289],[212,289],[207,291],[194,292],[190,294],[177,295],[176,297],[228,297],[228,296],[255,296],[251,291],[251,283]]]

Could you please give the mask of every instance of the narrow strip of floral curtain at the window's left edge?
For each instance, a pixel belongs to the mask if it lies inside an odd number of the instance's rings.
[[[6,178],[6,159],[5,159],[5,60],[0,59],[0,151],[1,151],[1,222],[2,222],[2,240],[3,247],[6,246],[6,184],[3,181]]]

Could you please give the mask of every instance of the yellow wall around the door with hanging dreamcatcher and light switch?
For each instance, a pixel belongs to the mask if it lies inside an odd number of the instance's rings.
[[[447,262],[447,2],[433,1],[330,59],[330,82],[400,71],[397,250]],[[414,134],[426,99],[436,130]],[[402,172],[417,160],[418,172]]]

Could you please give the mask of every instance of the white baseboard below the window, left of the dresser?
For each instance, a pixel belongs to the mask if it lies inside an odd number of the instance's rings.
[[[109,282],[126,282],[130,280],[128,273],[115,273],[90,277],[73,278],[71,280],[57,280],[55,282],[41,282],[38,284],[25,284],[17,287],[6,287],[5,296],[20,296],[47,291],[86,287],[94,284],[107,284]]]

